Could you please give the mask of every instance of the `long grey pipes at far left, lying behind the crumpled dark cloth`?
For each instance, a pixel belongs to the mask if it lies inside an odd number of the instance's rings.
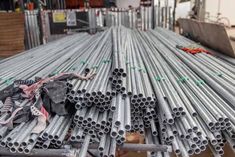
[[[91,37],[83,33],[68,36],[64,39],[51,42],[46,46],[39,46],[2,60],[0,62],[0,90],[9,86],[15,80],[32,80],[35,76],[46,77],[61,71],[68,72],[76,70],[76,65],[81,62],[77,61],[78,57],[80,57],[82,53],[84,56],[84,51],[81,50],[86,50],[87,47],[94,44],[94,41],[98,44],[98,36],[99,34]],[[81,42],[81,40],[84,42]]]

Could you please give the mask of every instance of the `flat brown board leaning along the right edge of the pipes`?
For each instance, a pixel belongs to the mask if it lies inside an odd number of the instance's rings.
[[[202,45],[235,58],[235,45],[231,43],[224,26],[191,19],[179,19],[178,21],[184,35],[190,36]]]

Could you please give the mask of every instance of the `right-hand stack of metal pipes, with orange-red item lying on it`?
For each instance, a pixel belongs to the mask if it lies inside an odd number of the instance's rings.
[[[234,149],[234,65],[207,53],[187,54],[177,45],[193,42],[161,28],[134,36],[157,86],[163,141],[183,156],[200,154],[207,145],[223,155],[226,141]]]

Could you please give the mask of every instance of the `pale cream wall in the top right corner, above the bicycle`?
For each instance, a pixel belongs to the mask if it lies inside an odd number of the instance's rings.
[[[235,0],[220,0],[220,13],[221,17],[227,17],[231,25],[235,25],[234,6]],[[216,16],[218,12],[219,0],[206,0],[206,12],[211,16]],[[213,18],[215,19],[215,18]]]

